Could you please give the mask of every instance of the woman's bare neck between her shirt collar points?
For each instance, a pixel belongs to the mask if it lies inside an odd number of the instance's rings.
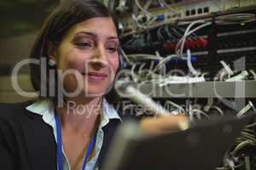
[[[63,130],[73,133],[93,135],[100,121],[102,98],[68,99],[67,103],[57,108]]]

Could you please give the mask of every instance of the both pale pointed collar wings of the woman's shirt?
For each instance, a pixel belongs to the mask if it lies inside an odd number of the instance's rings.
[[[32,105],[28,105],[26,107],[26,110],[43,116],[42,118],[44,122],[48,123],[52,127],[55,127],[55,106],[52,100],[39,100],[38,102],[33,103]],[[106,126],[109,120],[111,119],[118,119],[120,122],[122,122],[122,119],[120,118],[117,111],[115,111],[115,109],[113,108],[113,105],[109,105],[107,99],[103,99],[100,127]]]

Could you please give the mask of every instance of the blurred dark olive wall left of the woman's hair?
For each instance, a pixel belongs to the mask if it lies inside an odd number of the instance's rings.
[[[15,92],[11,72],[22,59],[29,58],[32,44],[46,15],[60,0],[0,1],[0,103],[28,98]],[[19,72],[20,88],[32,92],[27,65]]]

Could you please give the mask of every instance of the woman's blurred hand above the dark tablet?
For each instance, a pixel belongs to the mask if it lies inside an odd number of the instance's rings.
[[[188,128],[189,118],[184,115],[146,117],[140,122],[140,126],[150,135],[160,135]]]

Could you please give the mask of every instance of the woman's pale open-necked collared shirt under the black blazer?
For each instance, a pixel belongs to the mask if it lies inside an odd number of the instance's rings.
[[[40,100],[32,105],[28,105],[26,110],[32,111],[38,115],[43,116],[43,120],[45,123],[49,124],[53,128],[53,133],[55,136],[55,141],[57,141],[56,136],[56,125],[55,125],[55,105],[50,99]],[[96,134],[96,155],[86,164],[85,170],[97,170],[98,167],[96,165],[97,159],[99,157],[100,151],[102,149],[104,132],[102,127],[106,126],[110,119],[119,119],[121,121],[120,116],[117,111],[114,110],[113,105],[109,105],[106,99],[103,99],[102,103],[102,114],[101,114],[101,122],[98,127],[98,131]],[[63,153],[63,161],[64,161],[64,170],[71,170],[70,164],[67,161],[67,156],[62,147]]]

